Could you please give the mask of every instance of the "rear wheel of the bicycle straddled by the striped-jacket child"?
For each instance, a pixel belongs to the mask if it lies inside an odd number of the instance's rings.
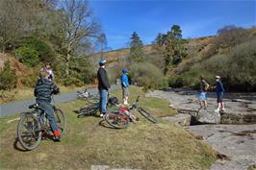
[[[41,126],[38,117],[31,113],[22,114],[17,126],[17,138],[24,149],[36,149],[41,141]]]

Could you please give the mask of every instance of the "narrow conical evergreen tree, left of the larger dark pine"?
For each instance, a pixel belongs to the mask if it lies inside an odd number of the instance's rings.
[[[130,47],[130,60],[144,61],[143,43],[136,32],[132,34]]]

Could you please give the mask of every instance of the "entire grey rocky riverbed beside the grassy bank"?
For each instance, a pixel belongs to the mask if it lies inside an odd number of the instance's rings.
[[[196,91],[155,90],[147,96],[169,100],[170,108],[179,113],[163,119],[184,126],[218,151],[222,158],[211,170],[256,169],[256,95],[227,94],[225,112],[214,111],[214,93],[208,95],[207,109],[200,109]]]

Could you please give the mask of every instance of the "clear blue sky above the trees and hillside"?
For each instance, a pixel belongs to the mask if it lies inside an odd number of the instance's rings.
[[[112,49],[128,47],[133,32],[150,44],[173,24],[185,38],[213,36],[227,25],[256,25],[256,0],[90,0],[89,5]]]

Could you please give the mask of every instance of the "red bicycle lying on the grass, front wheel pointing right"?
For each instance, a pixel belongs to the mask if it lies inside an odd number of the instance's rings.
[[[117,110],[108,111],[107,114],[105,114],[104,119],[114,128],[127,128],[130,121],[135,122],[138,120],[138,117],[135,115],[135,110],[137,109],[147,120],[152,123],[157,123],[157,120],[149,112],[138,107],[139,98],[140,96],[137,97],[136,102],[130,107],[121,106]]]

